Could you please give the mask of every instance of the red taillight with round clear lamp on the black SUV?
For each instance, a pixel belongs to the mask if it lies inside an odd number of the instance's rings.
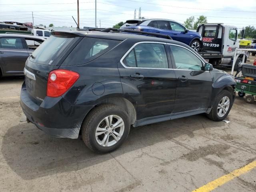
[[[64,94],[79,78],[74,71],[57,69],[48,75],[46,96],[59,97]]]

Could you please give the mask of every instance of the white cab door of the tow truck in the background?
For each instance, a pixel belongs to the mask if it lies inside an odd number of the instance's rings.
[[[237,29],[233,27],[229,27],[228,31],[228,38],[226,38],[226,44],[224,44],[223,53],[224,56],[234,56],[235,49],[239,45],[237,40]]]

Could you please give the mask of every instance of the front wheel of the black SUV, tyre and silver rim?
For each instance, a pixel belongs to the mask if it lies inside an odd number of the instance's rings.
[[[222,90],[215,98],[212,110],[207,114],[208,118],[214,121],[222,121],[228,116],[232,107],[232,96],[227,90]]]

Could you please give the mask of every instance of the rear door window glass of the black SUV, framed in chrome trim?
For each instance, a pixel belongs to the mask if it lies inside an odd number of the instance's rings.
[[[134,62],[135,60],[135,62]],[[124,58],[126,66],[138,68],[168,68],[168,60],[163,44],[142,43],[134,47]]]

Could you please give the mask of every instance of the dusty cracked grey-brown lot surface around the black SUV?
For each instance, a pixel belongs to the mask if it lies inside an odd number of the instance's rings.
[[[24,122],[22,82],[0,79],[1,192],[193,191],[256,160],[256,102],[236,96],[229,123],[200,114],[131,128],[121,148],[99,155]],[[213,191],[255,192],[255,180],[252,168]]]

